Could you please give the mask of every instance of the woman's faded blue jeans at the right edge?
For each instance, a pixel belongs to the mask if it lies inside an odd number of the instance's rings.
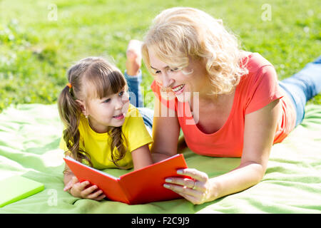
[[[279,85],[287,92],[295,105],[297,121],[295,127],[305,117],[305,104],[321,92],[321,56],[290,78],[279,81]]]

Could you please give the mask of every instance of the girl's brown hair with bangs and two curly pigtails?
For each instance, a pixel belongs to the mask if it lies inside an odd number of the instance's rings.
[[[68,151],[79,162],[86,160],[88,165],[93,166],[88,152],[79,148],[80,133],[78,130],[81,118],[81,106],[76,100],[84,100],[87,104],[90,98],[106,98],[108,95],[128,90],[126,78],[116,66],[101,57],[88,57],[78,61],[68,70],[68,83],[71,88],[65,86],[58,98],[58,111],[66,129],[63,130],[63,140],[66,142]],[[93,89],[94,88],[94,89]],[[126,142],[123,142],[120,127],[109,127],[108,135],[111,144],[112,162],[119,167],[117,162],[126,155]],[[126,141],[126,139],[125,139]],[[113,152],[114,149],[115,152]]]

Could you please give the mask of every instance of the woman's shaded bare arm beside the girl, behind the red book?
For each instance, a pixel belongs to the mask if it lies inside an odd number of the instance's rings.
[[[153,119],[153,145],[151,155],[153,162],[159,162],[177,154],[178,136],[180,125],[178,118],[168,115],[173,112],[163,105],[158,98],[155,98],[154,119]]]

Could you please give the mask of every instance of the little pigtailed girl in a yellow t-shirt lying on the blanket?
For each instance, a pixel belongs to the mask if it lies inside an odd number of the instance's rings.
[[[128,48],[131,46],[135,45]],[[133,74],[139,56],[132,49],[126,66]],[[126,77],[128,81],[138,80]],[[59,95],[58,110],[65,125],[60,147],[66,155],[100,170],[138,170],[153,163],[148,147],[153,140],[144,125],[145,121],[151,126],[151,119],[144,115],[143,120],[129,103],[126,78],[105,59],[84,58],[68,70],[68,83]],[[63,173],[64,190],[74,197],[105,197],[96,185],[86,188],[89,182],[78,182],[67,165]]]

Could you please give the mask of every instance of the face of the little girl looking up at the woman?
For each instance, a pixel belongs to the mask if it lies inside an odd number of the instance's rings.
[[[125,121],[129,108],[129,96],[125,90],[106,98],[94,98],[88,101],[85,115],[91,128],[97,133],[106,133],[108,127],[120,127]]]

